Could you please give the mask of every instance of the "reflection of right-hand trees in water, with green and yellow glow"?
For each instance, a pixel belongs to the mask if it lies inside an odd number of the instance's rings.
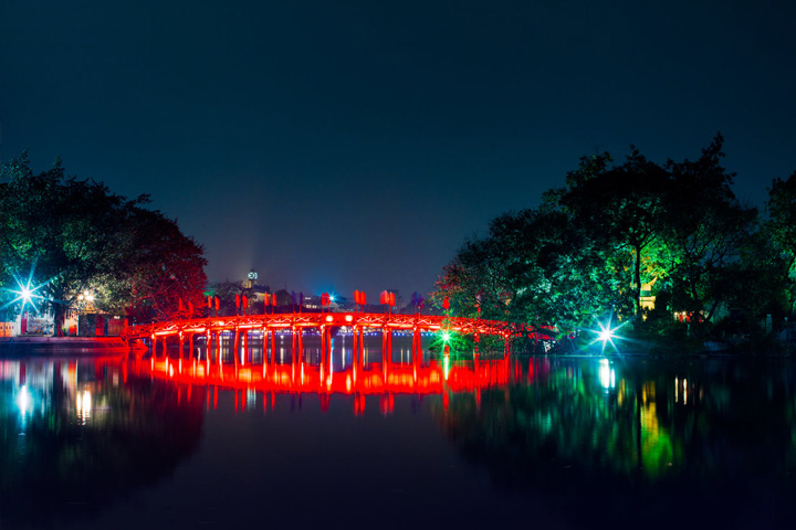
[[[502,487],[555,499],[576,526],[591,509],[654,527],[793,521],[793,361],[532,358],[513,373],[433,412]]]

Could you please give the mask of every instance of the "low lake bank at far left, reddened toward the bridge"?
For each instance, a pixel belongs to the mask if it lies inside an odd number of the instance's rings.
[[[119,337],[3,337],[0,357],[18,354],[108,354],[134,349]]]

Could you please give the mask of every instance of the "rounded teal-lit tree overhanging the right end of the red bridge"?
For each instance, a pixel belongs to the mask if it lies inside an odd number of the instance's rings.
[[[614,267],[565,212],[552,209],[500,215],[443,271],[432,297],[449,297],[462,316],[480,307],[483,318],[572,331],[606,307],[625,309]]]

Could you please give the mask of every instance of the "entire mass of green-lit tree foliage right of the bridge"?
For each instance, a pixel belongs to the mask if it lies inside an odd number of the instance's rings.
[[[465,241],[432,298],[449,297],[460,315],[474,316],[480,304],[485,318],[561,332],[607,315],[631,319],[636,332],[679,335],[681,326],[664,321],[675,311],[692,322],[731,308],[754,317],[790,311],[796,173],[774,181],[761,230],[757,210],[732,191],[722,147],[718,135],[696,160],[664,165],[636,148],[620,165],[607,152],[583,157],[538,209],[504,213],[485,236]],[[652,314],[641,308],[645,284],[657,296]]]

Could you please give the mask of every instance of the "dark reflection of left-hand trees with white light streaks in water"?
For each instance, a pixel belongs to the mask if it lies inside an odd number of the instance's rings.
[[[85,517],[197,447],[201,395],[179,402],[178,389],[127,380],[125,367],[118,356],[0,361],[3,528]]]

